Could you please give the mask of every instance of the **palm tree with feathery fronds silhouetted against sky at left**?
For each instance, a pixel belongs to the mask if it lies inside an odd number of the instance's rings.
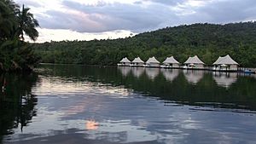
[[[24,33],[33,41],[36,41],[38,37],[38,31],[36,29],[39,26],[38,20],[34,19],[33,14],[28,11],[29,9],[24,8],[23,4],[22,10],[17,14],[19,26],[16,34],[22,41],[24,41]]]

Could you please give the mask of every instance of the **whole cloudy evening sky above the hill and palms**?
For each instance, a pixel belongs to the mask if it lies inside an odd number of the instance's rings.
[[[131,37],[166,26],[256,20],[255,0],[15,0],[39,21],[37,43]],[[26,38],[28,40],[28,38]]]

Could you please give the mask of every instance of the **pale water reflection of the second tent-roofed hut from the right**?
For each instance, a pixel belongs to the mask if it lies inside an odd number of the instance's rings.
[[[190,84],[197,84],[204,77],[204,71],[183,70],[183,73]]]

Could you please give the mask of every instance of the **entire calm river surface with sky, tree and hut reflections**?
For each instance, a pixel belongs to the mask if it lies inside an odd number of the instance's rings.
[[[0,143],[256,143],[255,75],[41,65],[0,85]]]

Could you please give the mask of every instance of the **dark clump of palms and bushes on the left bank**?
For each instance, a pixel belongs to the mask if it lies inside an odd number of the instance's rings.
[[[39,56],[25,42],[25,35],[36,41],[38,20],[12,0],[1,0],[0,10],[0,72],[31,72]]]

